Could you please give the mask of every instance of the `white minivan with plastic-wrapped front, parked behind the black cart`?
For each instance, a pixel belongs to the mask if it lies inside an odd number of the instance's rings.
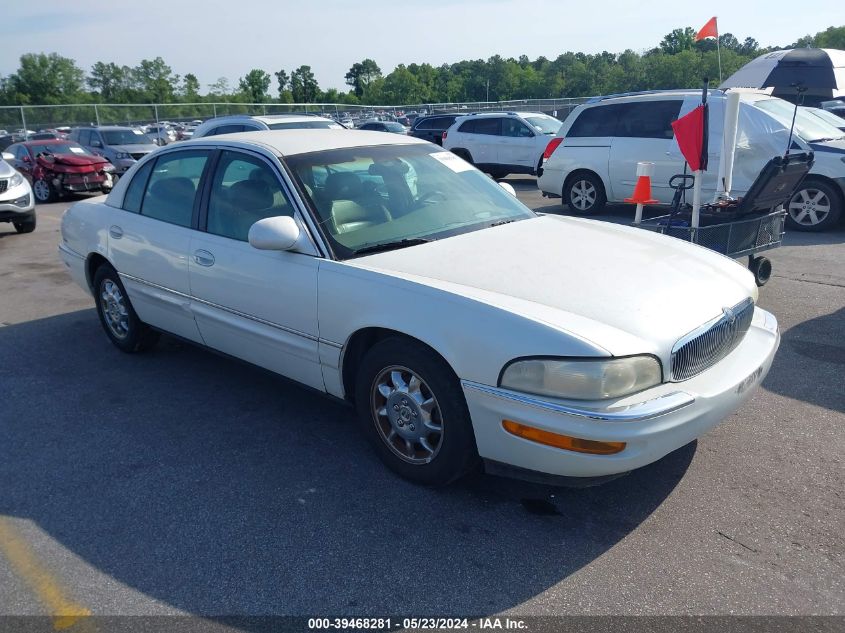
[[[726,95],[708,96],[709,167],[703,199],[716,190]],[[579,106],[549,143],[538,186],[546,196],[562,197],[579,214],[595,213],[606,202],[631,196],[637,163],[654,163],[652,197],[668,204],[674,191],[669,179],[684,170],[684,158],[671,123],[701,103],[700,90],[670,90],[600,97]],[[742,92],[731,194],[741,196],[763,165],[786,151],[794,106],[759,92]],[[800,109],[793,148],[813,150],[815,164],[789,203],[790,228],[832,228],[845,205],[845,135]]]

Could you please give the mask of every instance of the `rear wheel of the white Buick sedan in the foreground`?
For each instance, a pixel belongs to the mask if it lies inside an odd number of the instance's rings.
[[[158,342],[160,334],[138,318],[120,276],[108,264],[94,273],[94,299],[100,324],[119,350],[143,352]]]

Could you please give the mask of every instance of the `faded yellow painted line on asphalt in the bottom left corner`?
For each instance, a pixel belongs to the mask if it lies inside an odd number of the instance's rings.
[[[24,537],[3,516],[0,516],[0,552],[50,612],[55,630],[66,630],[77,623],[89,628],[86,616],[90,616],[91,611],[67,595],[61,581],[38,561]],[[81,627],[74,630],[82,630]]]

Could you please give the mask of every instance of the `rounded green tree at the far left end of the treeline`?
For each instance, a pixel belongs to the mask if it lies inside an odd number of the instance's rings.
[[[20,68],[5,84],[21,103],[58,104],[78,101],[85,71],[68,57],[57,53],[21,55]]]

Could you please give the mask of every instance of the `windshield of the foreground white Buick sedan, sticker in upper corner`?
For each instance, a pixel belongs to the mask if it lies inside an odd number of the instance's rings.
[[[451,152],[352,147],[285,158],[337,257],[536,217]]]

